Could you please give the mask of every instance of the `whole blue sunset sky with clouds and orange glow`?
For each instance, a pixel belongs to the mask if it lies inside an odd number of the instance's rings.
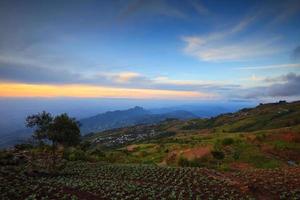
[[[0,98],[300,99],[299,0],[0,1]]]

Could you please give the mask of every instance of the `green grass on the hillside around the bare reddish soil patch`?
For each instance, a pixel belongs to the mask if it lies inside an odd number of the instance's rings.
[[[225,158],[217,161],[213,156],[208,155],[203,159],[190,160],[186,166],[205,166],[209,168],[228,170],[232,163],[248,163],[255,168],[277,168],[285,163],[278,158],[266,154],[261,146],[272,144],[275,149],[295,149],[298,143],[287,143],[283,141],[269,141],[266,138],[277,131],[256,131],[253,133],[213,133],[201,135],[197,133],[178,133],[176,136],[152,140],[152,143],[136,143],[132,151],[122,147],[118,150],[107,152],[106,157],[114,163],[142,163],[161,164],[173,151],[184,151],[187,148],[212,145],[214,149],[224,152]],[[177,155],[176,159],[168,162],[168,165],[176,166],[178,160],[184,157]],[[181,161],[180,161],[181,162]],[[184,162],[183,162],[184,163]]]

